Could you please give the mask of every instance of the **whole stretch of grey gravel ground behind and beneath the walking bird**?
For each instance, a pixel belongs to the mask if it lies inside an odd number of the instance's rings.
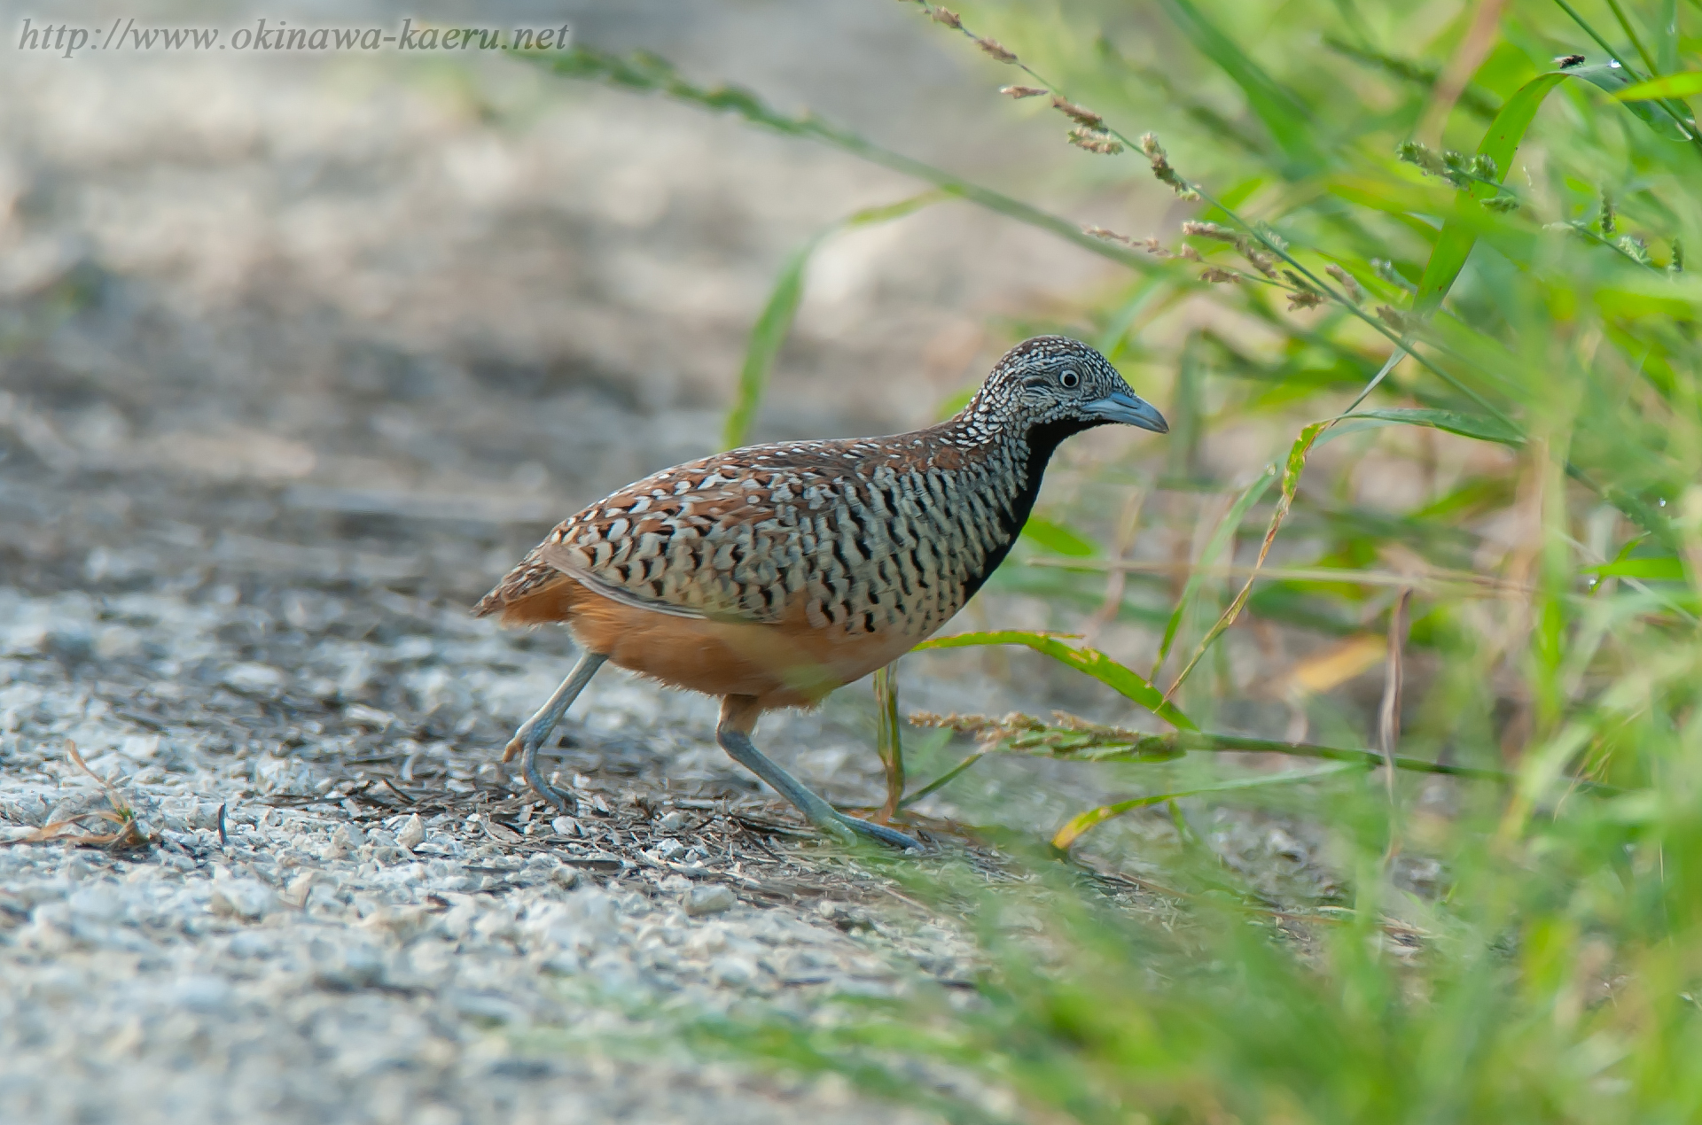
[[[0,3],[0,36],[19,14]],[[985,117],[999,75],[917,46],[892,3],[574,17],[987,177],[1019,179],[1030,151]],[[551,768],[575,808],[557,817],[497,757],[572,648],[466,616],[555,519],[713,449],[781,259],[916,186],[505,63],[17,63],[0,66],[7,1116],[928,1120],[706,1065],[667,1030],[960,991],[958,926],[885,859],[802,831],[710,740],[711,703],[620,672],[563,723]],[[924,422],[997,351],[991,313],[1098,271],[967,209],[829,243],[759,434]],[[980,613],[1045,621],[1019,599]],[[968,657],[938,667],[953,679],[907,674],[909,703],[1018,705]],[[1025,691],[1054,701],[1043,674]],[[759,739],[871,803],[871,706],[841,696]],[[1001,764],[965,793],[1055,827],[1106,776]],[[71,839],[119,807],[129,846]],[[999,873],[951,829],[962,808],[924,808],[941,853]],[[1159,817],[1117,829],[1174,842]],[[1328,895],[1304,825],[1214,832],[1273,887]]]

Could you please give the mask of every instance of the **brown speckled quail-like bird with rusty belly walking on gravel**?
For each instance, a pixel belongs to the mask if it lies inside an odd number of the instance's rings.
[[[563,621],[584,647],[516,732],[538,747],[604,660],[722,696],[715,735],[812,824],[900,848],[751,744],[757,717],[808,706],[951,620],[1011,550],[1059,443],[1125,422],[1168,432],[1094,349],[1040,335],[1011,349],[953,419],[909,434],[734,449],[662,470],[557,526],[475,611]]]

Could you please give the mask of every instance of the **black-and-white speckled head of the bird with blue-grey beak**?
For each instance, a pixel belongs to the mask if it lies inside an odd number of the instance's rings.
[[[965,414],[982,425],[1059,437],[1111,422],[1169,432],[1110,359],[1067,335],[1037,335],[1008,351]]]

